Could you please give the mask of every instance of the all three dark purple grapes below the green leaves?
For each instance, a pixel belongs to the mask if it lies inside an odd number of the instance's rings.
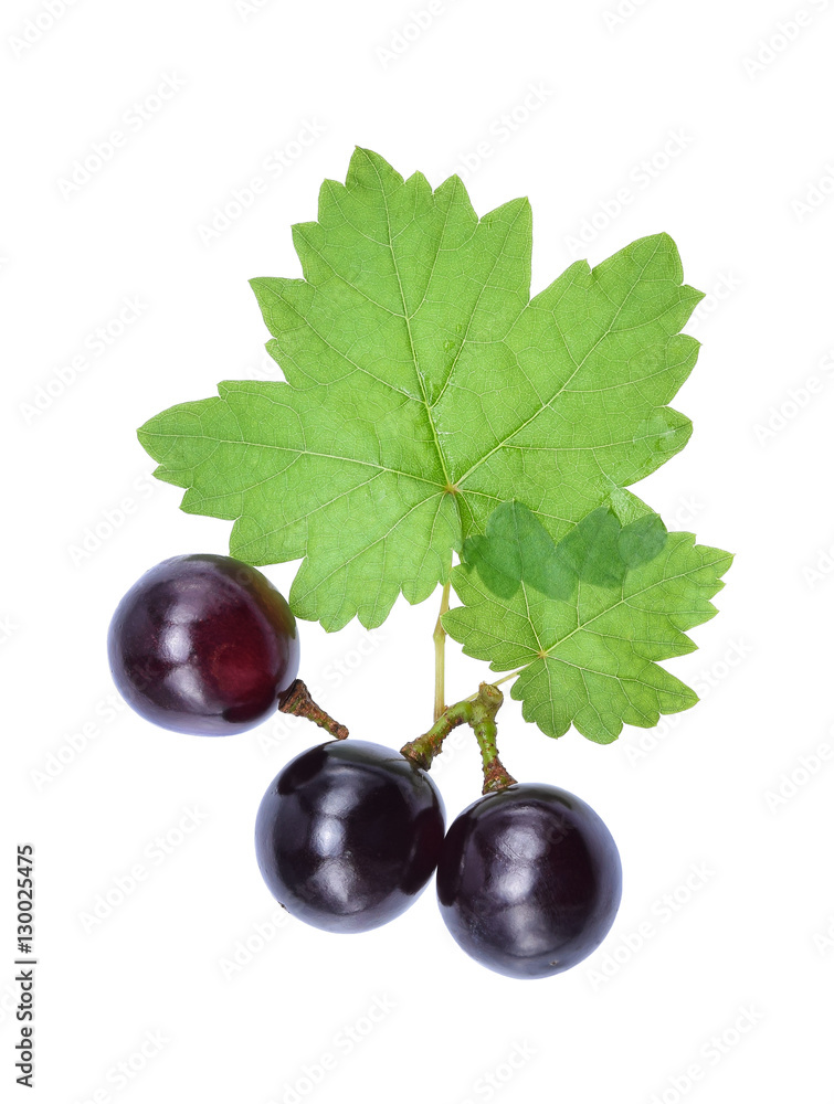
[[[257,811],[261,873],[292,915],[365,932],[408,909],[436,870],[452,936],[499,974],[558,974],[605,937],[621,866],[593,809],[505,772],[446,831],[420,741],[398,752],[345,740],[309,701],[295,618],[254,567],[208,554],[157,564],[119,603],[108,650],[125,700],[156,724],[226,735],[282,709],[336,737],[292,760]]]

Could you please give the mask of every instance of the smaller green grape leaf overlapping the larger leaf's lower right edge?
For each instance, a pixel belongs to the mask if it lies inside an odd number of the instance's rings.
[[[530,510],[505,502],[464,556],[452,572],[463,605],[443,627],[467,656],[518,675],[511,697],[547,735],[573,724],[605,744],[697,701],[656,660],[695,649],[685,630],[715,615],[729,553],[667,533],[656,514],[622,526],[606,508],[553,544]]]

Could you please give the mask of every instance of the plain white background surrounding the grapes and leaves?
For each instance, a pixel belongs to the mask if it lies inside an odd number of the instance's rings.
[[[834,10],[51,2],[57,18],[9,0],[0,28],[4,1097],[831,1102]],[[315,141],[293,145],[305,127]],[[112,158],[62,185],[117,129]],[[135,427],[219,380],[275,376],[246,282],[299,275],[289,226],[315,217],[355,144],[435,185],[468,166],[482,214],[528,194],[534,290],[577,256],[667,231],[687,280],[717,293],[688,327],[704,348],[675,402],[692,443],[638,487],[671,528],[737,553],[699,650],[669,664],[703,701],[608,747],[548,741],[513,702],[500,716],[509,768],[582,796],[623,857],[608,942],[547,980],[466,958],[432,889],[366,935],[274,931],[254,814],[315,730],[279,719],[199,740],[113,705],[122,594],[159,560],[228,548],[226,523],[183,514],[148,477]],[[279,174],[264,169],[276,151]],[[262,193],[207,244],[215,209],[256,176]],[[114,322],[126,299],[138,318]],[[286,591],[295,567],[268,574]],[[399,746],[426,726],[436,601],[398,604],[370,639],[303,625],[303,675],[356,735]],[[454,700],[484,668],[451,651]],[[398,716],[412,687],[421,708]],[[454,816],[478,790],[474,746],[436,774]],[[183,834],[189,809],[200,822]],[[23,840],[40,957],[28,1095],[12,1058]],[[91,924],[137,864],[134,891]]]

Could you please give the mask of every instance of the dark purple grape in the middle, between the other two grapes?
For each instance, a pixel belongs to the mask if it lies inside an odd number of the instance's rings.
[[[367,932],[425,887],[444,825],[425,771],[380,744],[332,741],[273,781],[257,811],[255,852],[292,915],[328,932]]]

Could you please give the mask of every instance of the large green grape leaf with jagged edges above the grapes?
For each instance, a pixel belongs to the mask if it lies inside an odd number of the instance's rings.
[[[508,499],[555,541],[599,507],[646,514],[626,488],[686,444],[667,404],[698,351],[667,235],[531,298],[526,200],[478,219],[458,178],[432,191],[358,149],[294,242],[304,278],[252,280],[284,381],[221,383],[139,437],[183,510],[234,522],[233,555],[303,561],[298,616],[421,602]]]

